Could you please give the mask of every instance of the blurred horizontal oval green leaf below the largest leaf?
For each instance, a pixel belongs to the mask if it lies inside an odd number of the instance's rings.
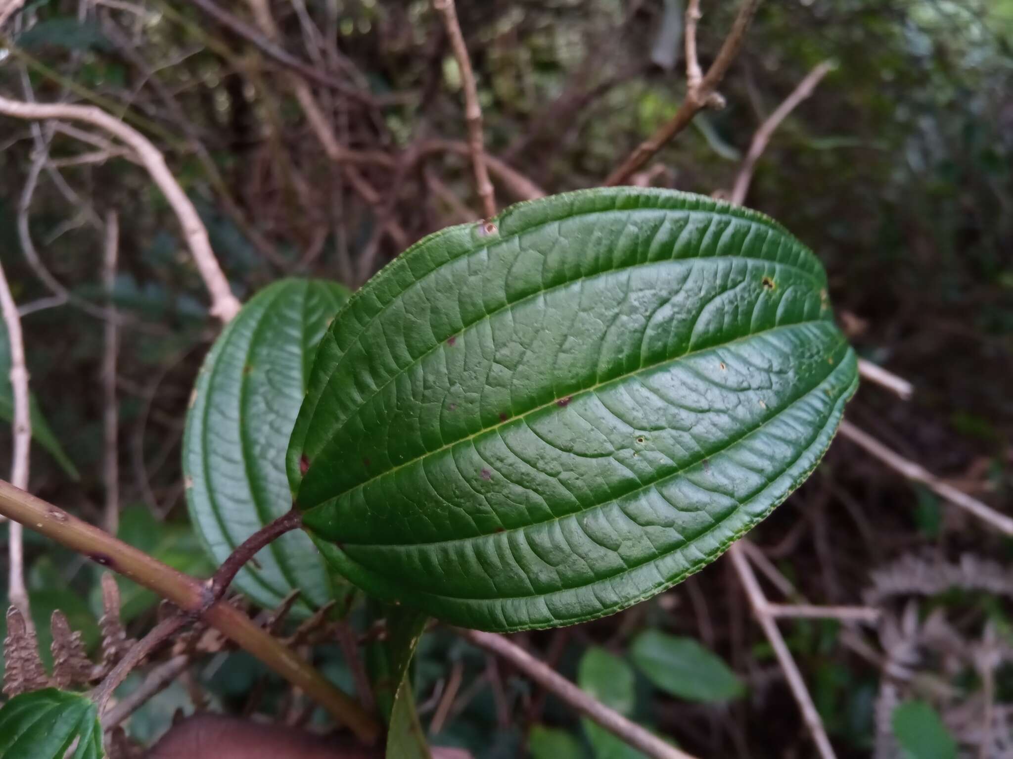
[[[651,683],[680,698],[727,701],[746,692],[724,660],[692,637],[646,630],[633,641],[630,657]]]

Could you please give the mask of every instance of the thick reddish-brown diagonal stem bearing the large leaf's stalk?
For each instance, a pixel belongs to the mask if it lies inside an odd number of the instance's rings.
[[[208,583],[163,564],[5,480],[0,480],[0,515],[130,578],[184,612],[203,617],[241,649],[319,701],[363,743],[376,743],[380,726],[358,702],[245,614],[223,601],[216,601]]]

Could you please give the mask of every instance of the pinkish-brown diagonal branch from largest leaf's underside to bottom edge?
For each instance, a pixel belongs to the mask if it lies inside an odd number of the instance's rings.
[[[455,628],[455,631],[478,648],[506,660],[543,688],[551,691],[560,701],[595,720],[652,759],[693,759],[690,754],[666,743],[653,733],[630,722],[618,711],[610,709],[601,701],[588,695],[551,667],[538,661],[520,646],[511,642],[502,635],[461,628]]]

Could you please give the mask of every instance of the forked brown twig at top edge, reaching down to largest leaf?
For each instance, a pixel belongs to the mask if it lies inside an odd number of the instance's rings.
[[[618,168],[616,168],[604,184],[615,186],[629,180],[630,176],[639,170],[654,153],[660,150],[666,143],[689,126],[693,118],[706,107],[720,107],[723,99],[717,92],[717,86],[724,78],[724,74],[731,66],[732,61],[738,55],[739,48],[746,39],[746,31],[753,20],[760,0],[743,0],[738,8],[738,14],[731,25],[731,30],[724,39],[721,49],[717,53],[714,62],[707,69],[707,73],[701,76],[700,63],[696,54],[696,27],[700,15],[699,0],[690,0],[686,8],[686,97],[683,99],[679,110],[668,122],[663,124],[649,138],[644,140],[636,149],[627,156]]]

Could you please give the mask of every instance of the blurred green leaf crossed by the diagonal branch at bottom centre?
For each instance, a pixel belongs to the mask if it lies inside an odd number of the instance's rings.
[[[605,649],[588,649],[577,667],[577,685],[623,716],[630,716],[636,705],[633,669]],[[643,759],[644,755],[631,748],[598,723],[587,717],[580,719],[595,759]]]

